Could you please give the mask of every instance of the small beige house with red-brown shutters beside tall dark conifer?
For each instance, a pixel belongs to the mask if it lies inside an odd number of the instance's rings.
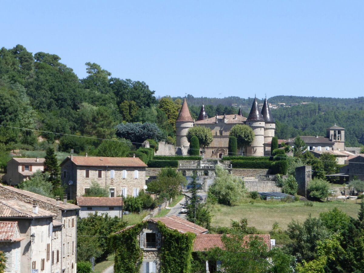
[[[7,163],[6,174],[1,179],[3,183],[15,186],[27,180],[37,170],[44,170],[44,158],[17,158],[10,159]]]

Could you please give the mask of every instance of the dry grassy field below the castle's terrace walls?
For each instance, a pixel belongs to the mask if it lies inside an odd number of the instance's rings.
[[[278,200],[264,201],[243,198],[233,206],[214,205],[211,207],[213,214],[212,226],[230,226],[231,220],[248,219],[249,226],[255,226],[262,232],[270,232],[272,224],[278,222],[282,229],[286,229],[289,222],[298,220],[303,222],[309,214],[317,217],[323,211],[332,210],[334,207],[348,215],[357,218],[360,200],[314,202],[313,206],[305,206],[304,202],[285,203]]]

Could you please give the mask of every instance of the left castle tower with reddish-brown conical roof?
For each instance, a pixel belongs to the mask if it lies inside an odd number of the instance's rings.
[[[194,120],[191,117],[190,110],[188,109],[186,98],[183,100],[181,111],[179,111],[176,119],[176,146],[189,147],[190,143],[187,140],[187,131],[193,127]],[[183,154],[187,153],[187,149],[183,149]]]

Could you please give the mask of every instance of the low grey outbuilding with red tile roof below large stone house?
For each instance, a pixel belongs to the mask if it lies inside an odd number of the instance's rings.
[[[107,213],[109,216],[121,217],[123,201],[121,197],[76,197],[77,205],[81,207],[79,216],[86,218],[90,213]]]

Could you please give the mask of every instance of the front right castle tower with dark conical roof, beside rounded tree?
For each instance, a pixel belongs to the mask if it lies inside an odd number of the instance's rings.
[[[263,156],[265,120],[260,112],[257,98],[254,98],[252,109],[250,109],[248,119],[246,119],[246,125],[253,129],[255,135],[253,142],[246,149],[246,154],[251,156]]]

